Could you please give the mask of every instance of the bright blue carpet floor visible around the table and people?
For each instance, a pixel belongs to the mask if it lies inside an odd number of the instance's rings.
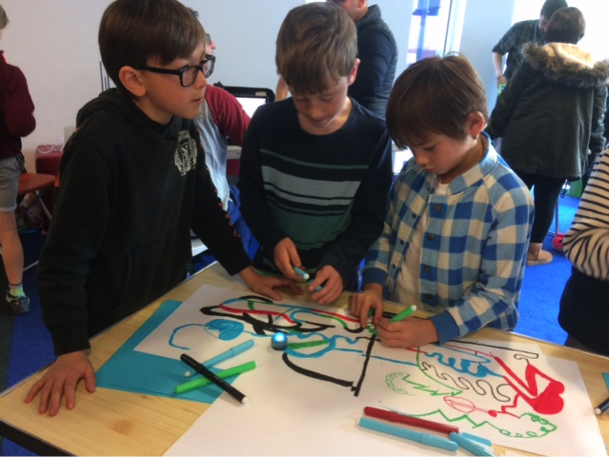
[[[565,233],[569,229],[578,201],[577,198],[570,196],[560,198],[560,233]],[[555,226],[556,224],[553,223],[551,227],[553,232]],[[563,344],[566,334],[557,323],[557,314],[559,299],[570,275],[571,267],[563,254],[553,249],[552,240],[553,234],[547,236],[544,249],[553,252],[555,257],[553,262],[548,265],[526,269],[519,303],[521,319],[515,331],[522,335]],[[27,264],[38,257],[38,252],[44,242],[44,236],[26,234],[22,236],[22,241]],[[203,263],[196,264],[196,269],[209,261],[210,259],[204,259]],[[26,292],[32,299],[32,311],[24,316],[12,317],[8,314],[8,309],[0,308],[0,319],[2,319],[0,330],[3,332],[11,332],[12,330],[12,339],[0,338],[0,343],[2,343],[2,346],[0,346],[0,373],[2,373],[3,362],[8,361],[6,379],[3,380],[0,376],[0,391],[40,370],[53,360],[51,339],[42,323],[40,304],[35,293],[35,271],[36,268],[33,268],[26,272],[24,276]],[[4,293],[4,290],[6,290],[6,276],[0,266],[0,292]],[[4,371],[6,371],[6,367]],[[8,440],[0,442],[0,457],[35,456],[36,454]]]

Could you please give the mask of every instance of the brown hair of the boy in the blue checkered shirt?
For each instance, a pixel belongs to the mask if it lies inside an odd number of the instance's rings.
[[[487,121],[485,87],[468,59],[431,57],[415,62],[396,79],[386,123],[394,142],[405,148],[431,134],[462,140],[468,115],[475,111]]]

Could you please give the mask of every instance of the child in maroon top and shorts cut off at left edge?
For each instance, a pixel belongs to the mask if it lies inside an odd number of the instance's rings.
[[[8,25],[8,16],[0,5],[0,38]],[[17,232],[15,208],[19,176],[25,159],[21,138],[36,127],[34,103],[21,70],[9,65],[0,51],[0,246],[8,279],[6,302],[13,314],[30,310],[30,298],[23,291],[23,247]]]

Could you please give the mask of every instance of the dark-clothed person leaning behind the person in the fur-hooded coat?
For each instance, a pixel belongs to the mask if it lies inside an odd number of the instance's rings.
[[[496,70],[496,85],[506,85],[523,60],[521,49],[526,43],[544,44],[544,34],[549,19],[559,8],[565,8],[565,0],[546,0],[540,10],[540,19],[521,21],[514,24],[491,50],[491,61]],[[503,57],[506,57],[506,70],[503,71]]]

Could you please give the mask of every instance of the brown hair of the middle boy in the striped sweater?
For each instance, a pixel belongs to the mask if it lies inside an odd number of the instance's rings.
[[[278,72],[303,94],[324,92],[328,77],[338,81],[349,76],[358,55],[354,21],[331,3],[309,3],[290,10],[276,45]]]

